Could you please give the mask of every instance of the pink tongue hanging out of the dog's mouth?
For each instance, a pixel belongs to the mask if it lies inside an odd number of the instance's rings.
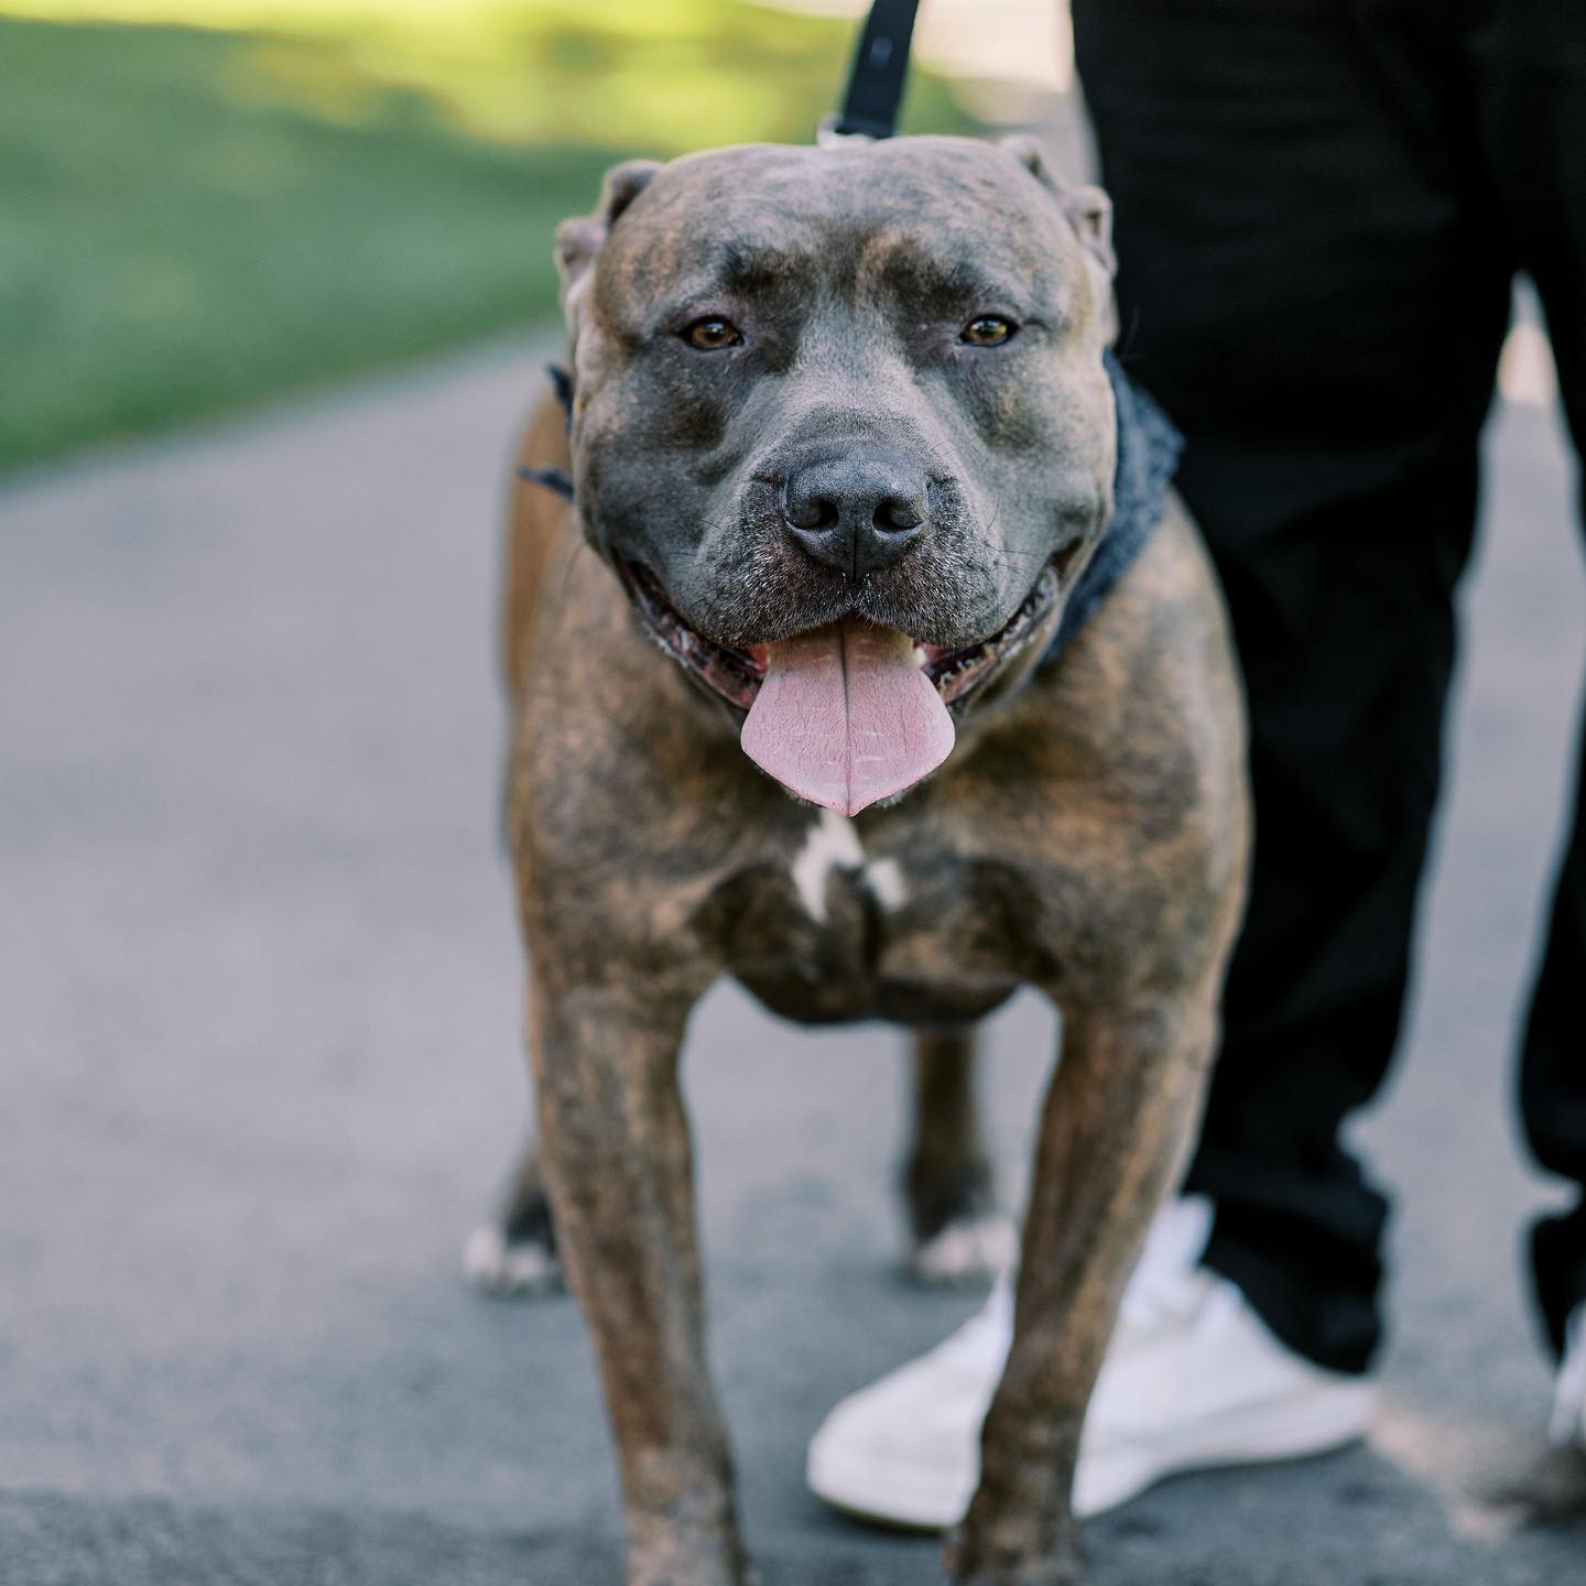
[[[914,639],[849,619],[771,646],[742,742],[799,798],[856,815],[929,776],[953,749],[953,718]]]

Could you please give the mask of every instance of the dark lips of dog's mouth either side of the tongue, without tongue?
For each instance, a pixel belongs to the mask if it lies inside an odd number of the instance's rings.
[[[720,695],[730,706],[747,711],[764,682],[771,646],[731,649],[715,644],[684,622],[666,598],[660,579],[649,568],[630,561],[623,563],[622,571],[634,609],[657,644],[712,693]],[[1018,611],[988,639],[956,650],[915,641],[915,661],[942,696],[942,703],[955,704],[966,699],[982,684],[990,682],[994,672],[1023,650],[1056,598],[1058,569],[1048,563]]]

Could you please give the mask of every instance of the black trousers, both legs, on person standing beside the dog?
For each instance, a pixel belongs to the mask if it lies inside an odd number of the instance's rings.
[[[1256,868],[1188,1188],[1207,1261],[1362,1370],[1386,1205],[1342,1150],[1399,1034],[1516,271],[1586,447],[1586,0],[1075,0],[1120,351],[1245,666]],[[1557,687],[1557,679],[1548,679]],[[1586,785],[1524,1036],[1537,1159],[1586,1183]],[[1586,1207],[1534,1234],[1559,1343]]]

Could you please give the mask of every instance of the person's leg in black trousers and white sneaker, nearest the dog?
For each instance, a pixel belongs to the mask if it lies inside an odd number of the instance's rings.
[[[1370,1383],[1343,1373],[1378,1335],[1383,1202],[1339,1126],[1397,1034],[1508,319],[1451,10],[1074,0],[1120,352],[1188,438],[1180,482],[1226,582],[1256,783],[1255,901],[1191,1194],[1124,1297],[1082,1511],[1175,1470],[1320,1453],[1370,1415]],[[955,1521],[1010,1337],[1004,1293],[852,1394],[810,1443],[810,1486]]]

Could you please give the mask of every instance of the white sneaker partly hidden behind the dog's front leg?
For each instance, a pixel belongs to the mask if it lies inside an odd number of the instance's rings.
[[[1115,1508],[1178,1470],[1318,1454],[1366,1432],[1370,1380],[1291,1353],[1234,1283],[1197,1267],[1210,1226],[1210,1204],[1190,1197],[1151,1226],[1085,1418],[1080,1515]],[[826,1416],[809,1445],[810,1489],[866,1519],[956,1524],[980,1475],[980,1423],[1012,1335],[1004,1278],[945,1343]]]

